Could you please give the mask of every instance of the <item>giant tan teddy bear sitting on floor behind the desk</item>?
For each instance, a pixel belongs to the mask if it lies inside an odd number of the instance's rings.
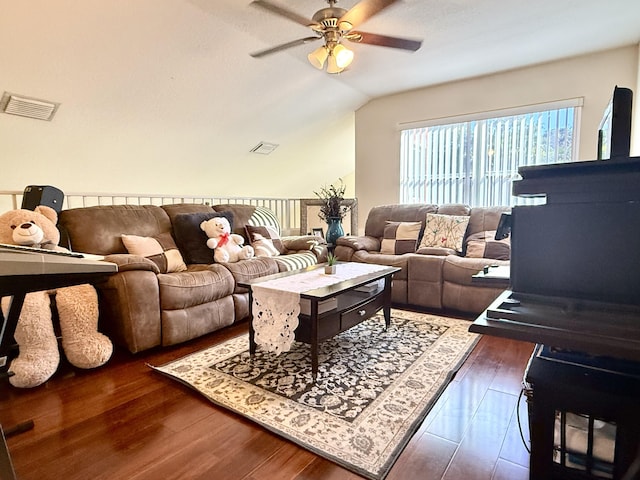
[[[57,221],[56,211],[43,205],[34,211],[11,210],[0,215],[0,243],[66,250],[58,246]],[[58,369],[60,352],[52,322],[51,295],[55,295],[62,348],[69,363],[87,369],[104,365],[111,358],[113,344],[98,332],[98,295],[93,286],[28,293],[14,334],[19,353],[9,367],[13,372],[9,381],[15,387],[41,385]],[[5,316],[9,302],[9,297],[2,299]]]

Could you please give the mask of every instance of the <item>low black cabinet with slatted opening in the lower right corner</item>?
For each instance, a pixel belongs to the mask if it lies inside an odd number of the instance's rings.
[[[537,345],[524,383],[532,480],[638,478],[640,363]]]

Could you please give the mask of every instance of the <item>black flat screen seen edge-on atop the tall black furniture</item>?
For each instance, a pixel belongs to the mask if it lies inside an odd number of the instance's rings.
[[[616,86],[598,130],[598,160],[629,157],[633,92]]]

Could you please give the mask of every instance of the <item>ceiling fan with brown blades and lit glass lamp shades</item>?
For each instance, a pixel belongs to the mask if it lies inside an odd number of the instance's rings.
[[[311,19],[308,19],[268,0],[253,0],[251,5],[263,8],[270,13],[280,15],[300,25],[309,27],[315,35],[254,52],[251,53],[251,56],[260,58],[287,48],[323,39],[324,45],[307,55],[307,58],[314,67],[320,70],[324,68],[326,62],[327,73],[340,73],[348,67],[353,60],[353,52],[342,44],[342,40],[415,52],[422,45],[421,40],[389,37],[377,33],[353,30],[376,13],[398,1],[399,0],[361,0],[350,10],[345,10],[344,8],[335,6],[338,0],[327,0],[329,7],[318,10],[313,14]]]

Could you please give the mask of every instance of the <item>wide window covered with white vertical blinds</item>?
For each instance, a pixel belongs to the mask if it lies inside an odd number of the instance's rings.
[[[574,99],[403,129],[400,202],[531,203],[511,195],[518,168],[575,160],[580,106]]]

